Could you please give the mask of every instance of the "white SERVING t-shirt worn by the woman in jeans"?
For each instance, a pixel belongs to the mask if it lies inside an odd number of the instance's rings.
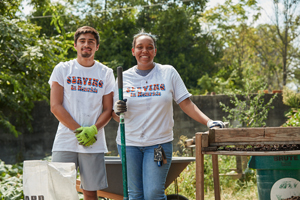
[[[189,94],[180,75],[171,65],[155,63],[146,76],[134,69],[123,72],[126,146],[152,146],[173,140],[173,99]],[[119,99],[115,85],[114,102]],[[120,128],[116,141],[121,144]]]

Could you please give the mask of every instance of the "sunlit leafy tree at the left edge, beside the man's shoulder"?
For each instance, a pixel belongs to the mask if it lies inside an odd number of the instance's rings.
[[[34,101],[49,99],[48,80],[64,59],[61,38],[39,37],[39,27],[0,15],[0,124],[15,136],[15,126],[31,126]]]

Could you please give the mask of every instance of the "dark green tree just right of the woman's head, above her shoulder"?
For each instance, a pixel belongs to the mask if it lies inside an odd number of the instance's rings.
[[[158,36],[157,62],[173,65],[188,88],[198,87],[197,79],[205,73],[217,72],[214,63],[219,59],[219,49],[211,45],[213,48],[209,50],[213,38],[199,34],[199,14],[195,16],[191,8],[172,4],[154,17],[159,23],[153,23],[148,30]]]

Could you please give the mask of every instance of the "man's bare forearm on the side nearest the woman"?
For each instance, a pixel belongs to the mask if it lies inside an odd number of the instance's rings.
[[[103,96],[103,111],[96,122],[97,129],[103,128],[111,119],[114,93],[111,92]]]

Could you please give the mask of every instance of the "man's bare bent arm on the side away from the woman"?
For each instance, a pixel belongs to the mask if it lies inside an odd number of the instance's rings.
[[[50,108],[54,116],[60,121],[63,125],[69,129],[76,130],[80,125],[72,118],[68,111],[63,107],[64,99],[64,87],[59,85],[57,82],[52,83],[51,92],[50,92]]]

